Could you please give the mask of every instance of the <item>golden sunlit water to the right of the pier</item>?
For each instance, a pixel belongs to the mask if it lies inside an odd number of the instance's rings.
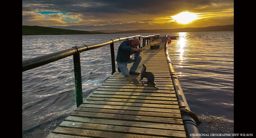
[[[168,46],[190,109],[201,119],[200,133],[233,133],[233,32],[179,33]]]

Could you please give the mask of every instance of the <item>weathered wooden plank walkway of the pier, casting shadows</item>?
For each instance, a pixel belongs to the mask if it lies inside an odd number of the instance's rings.
[[[159,44],[160,48],[150,49]],[[47,138],[186,137],[161,39],[142,48],[142,64],[155,75],[159,89],[140,75],[116,71]],[[132,66],[128,64],[128,69]]]

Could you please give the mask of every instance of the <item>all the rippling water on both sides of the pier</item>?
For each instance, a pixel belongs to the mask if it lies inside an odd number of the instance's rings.
[[[154,34],[158,33],[22,36],[22,60],[118,37]],[[234,133],[234,32],[159,34],[179,36],[168,45],[168,53],[191,111],[203,120],[199,132]],[[121,42],[115,43],[115,57]],[[111,75],[110,46],[80,56],[86,100]],[[45,138],[74,111],[74,87],[72,56],[22,72],[22,137]]]

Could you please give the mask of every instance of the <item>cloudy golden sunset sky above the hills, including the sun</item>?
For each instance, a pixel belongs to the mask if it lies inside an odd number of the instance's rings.
[[[95,31],[234,24],[234,0],[22,0],[22,25]]]

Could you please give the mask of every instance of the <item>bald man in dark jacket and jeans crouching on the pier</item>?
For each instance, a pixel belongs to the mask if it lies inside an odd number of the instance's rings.
[[[135,48],[139,45],[139,39],[134,38],[132,40],[124,40],[117,51],[117,65],[118,71],[121,72],[125,77],[129,74],[139,75],[139,72],[136,72],[139,63],[141,61],[141,56],[139,55],[142,51],[141,48]],[[133,65],[128,71],[127,64],[132,63]]]

